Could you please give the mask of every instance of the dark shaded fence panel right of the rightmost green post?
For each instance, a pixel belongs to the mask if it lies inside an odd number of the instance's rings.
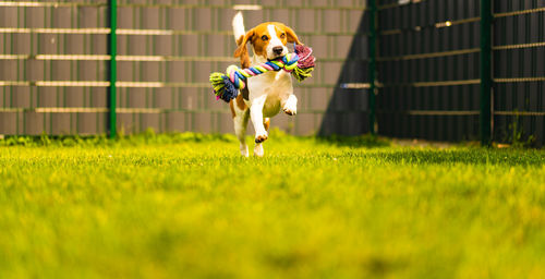
[[[494,136],[545,144],[545,1],[495,1]]]

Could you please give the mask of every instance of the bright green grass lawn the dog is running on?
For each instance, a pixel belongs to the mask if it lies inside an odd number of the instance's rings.
[[[249,159],[232,136],[1,145],[0,278],[545,278],[543,150],[278,134]]]

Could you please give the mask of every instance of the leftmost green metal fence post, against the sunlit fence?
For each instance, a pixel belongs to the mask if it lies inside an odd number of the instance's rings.
[[[108,117],[108,130],[110,138],[114,138],[118,134],[117,131],[117,74],[118,74],[118,63],[116,61],[116,57],[118,53],[118,37],[117,37],[117,27],[118,27],[118,3],[117,0],[110,0],[110,36],[109,36],[109,54],[110,54],[110,88],[109,88],[109,117]]]

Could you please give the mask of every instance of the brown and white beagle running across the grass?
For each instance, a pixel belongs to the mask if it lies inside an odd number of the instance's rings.
[[[288,54],[288,43],[301,45],[293,29],[279,22],[262,23],[246,33],[242,13],[238,12],[232,25],[238,45],[234,57],[240,58],[243,69]],[[252,45],[252,58],[247,52],[247,43]],[[251,119],[255,130],[254,155],[262,157],[270,118],[278,114],[280,109],[289,116],[298,113],[298,98],[293,95],[291,74],[286,71],[270,71],[253,76],[246,80],[246,87],[240,93],[230,101],[240,151],[242,156],[249,156],[245,134]]]

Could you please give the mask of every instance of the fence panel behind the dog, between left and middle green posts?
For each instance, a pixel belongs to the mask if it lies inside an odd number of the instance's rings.
[[[338,104],[346,100],[332,96],[337,96],[335,88],[339,87],[343,69],[351,70],[346,74],[349,80],[360,74],[360,50],[350,52],[350,45],[361,39],[356,35],[360,35],[358,23],[363,14],[363,2],[121,2],[119,54],[146,59],[119,63],[122,88],[118,98],[118,125],[131,133],[147,128],[159,132],[231,132],[229,108],[210,94],[208,75],[238,62],[232,58],[237,46],[231,20],[235,13],[233,7],[242,4],[245,7],[239,9],[247,9],[243,12],[246,29],[262,22],[283,22],[293,27],[318,57],[314,78],[295,84],[298,116],[280,114],[272,119],[272,126],[293,134],[312,134],[320,129],[340,133],[338,125],[323,122],[324,119],[359,119],[352,114],[359,113],[360,107],[346,109],[344,104]],[[341,108],[332,110],[331,106]],[[337,114],[342,117],[336,118]]]

